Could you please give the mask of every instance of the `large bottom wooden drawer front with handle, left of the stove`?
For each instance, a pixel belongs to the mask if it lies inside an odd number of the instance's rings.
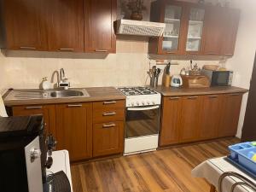
[[[124,148],[124,121],[93,125],[93,156],[119,154]]]

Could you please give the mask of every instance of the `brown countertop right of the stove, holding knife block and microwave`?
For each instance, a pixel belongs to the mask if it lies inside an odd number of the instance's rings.
[[[172,88],[159,86],[154,90],[160,92],[162,96],[198,96],[198,95],[214,95],[214,94],[227,94],[227,93],[246,93],[248,90],[233,87],[209,87],[209,88]]]

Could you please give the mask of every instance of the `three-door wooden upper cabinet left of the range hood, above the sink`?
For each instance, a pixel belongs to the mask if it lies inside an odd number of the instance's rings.
[[[3,48],[115,53],[116,0],[3,0]]]

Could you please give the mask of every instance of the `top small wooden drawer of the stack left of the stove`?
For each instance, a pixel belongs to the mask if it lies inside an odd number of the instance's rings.
[[[93,103],[93,110],[110,110],[113,108],[125,108],[125,100],[111,100]]]

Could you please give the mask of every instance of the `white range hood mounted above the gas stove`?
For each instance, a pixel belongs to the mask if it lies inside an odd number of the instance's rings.
[[[117,34],[160,37],[166,24],[141,20],[117,20]]]

